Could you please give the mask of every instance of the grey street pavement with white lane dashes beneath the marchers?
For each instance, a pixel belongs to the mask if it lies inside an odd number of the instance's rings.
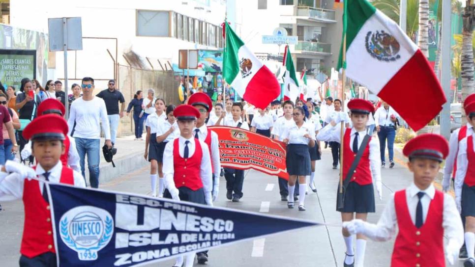
[[[142,142],[141,146],[143,146]],[[402,155],[396,152],[395,157],[396,166],[393,169],[386,167],[382,170],[383,200],[376,201],[376,213],[368,216],[370,222],[377,222],[392,192],[407,187],[412,181],[412,175],[405,167]],[[339,170],[331,169],[329,150],[323,151],[322,158],[317,161],[315,183],[318,192],[310,191],[306,196],[307,211],[305,212],[299,212],[297,208],[289,210],[287,203],[280,201],[276,177],[255,170],[246,171],[244,196],[238,203],[226,199],[226,181],[222,177],[220,193],[218,200],[214,203],[215,206],[313,220],[327,223],[327,226],[306,228],[265,239],[243,241],[212,249],[208,253],[208,267],[342,267],[345,244],[341,236],[340,214],[335,211]],[[142,167],[103,183],[100,187],[150,195],[148,173],[148,167]],[[376,192],[375,195],[377,195]],[[23,204],[21,201],[1,204],[4,210],[0,212],[0,263],[5,267],[18,266],[23,227]],[[365,266],[389,266],[392,246],[393,241],[382,243],[368,241]],[[173,263],[174,260],[169,260],[145,266],[171,267]],[[195,265],[197,265],[196,262]],[[456,266],[463,266],[462,262],[458,261]]]

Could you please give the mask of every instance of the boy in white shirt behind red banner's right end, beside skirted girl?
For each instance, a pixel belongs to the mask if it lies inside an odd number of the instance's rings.
[[[270,134],[274,136],[274,139],[279,140],[279,141],[284,140],[284,138],[282,138],[284,131],[295,125],[295,121],[292,119],[292,111],[294,110],[294,102],[290,100],[285,101],[282,104],[282,109],[284,110],[284,115],[282,117],[279,117],[274,122],[274,127],[272,127],[272,131],[270,132]],[[289,196],[289,189],[287,187],[288,182],[282,177],[278,177],[278,181],[279,181],[280,200],[288,201],[288,196]],[[298,184],[296,185],[296,187],[298,187]],[[296,190],[298,191],[297,188]],[[294,200],[298,200],[298,197],[296,198],[296,195],[294,195]]]

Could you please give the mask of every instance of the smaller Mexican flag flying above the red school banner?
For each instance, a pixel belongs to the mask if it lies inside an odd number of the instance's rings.
[[[265,109],[280,95],[280,84],[233,29],[227,23],[224,27],[223,77],[245,101]]]

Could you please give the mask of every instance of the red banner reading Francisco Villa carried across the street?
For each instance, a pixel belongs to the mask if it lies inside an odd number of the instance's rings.
[[[218,134],[222,167],[255,169],[289,179],[284,143],[240,128],[212,126],[209,129]]]

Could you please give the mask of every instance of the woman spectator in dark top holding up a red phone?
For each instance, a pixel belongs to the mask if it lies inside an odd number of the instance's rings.
[[[20,118],[21,123],[20,130],[18,131],[18,144],[20,145],[21,153],[25,144],[28,143],[28,140],[23,138],[23,129],[25,129],[25,127],[36,117],[36,109],[38,108],[41,99],[33,91],[33,82],[28,78],[22,80],[20,91],[22,91],[23,94],[17,95],[15,109],[18,110],[18,117]],[[22,160],[25,161],[26,159]],[[33,164],[33,160],[33,156],[30,156],[30,164]]]

